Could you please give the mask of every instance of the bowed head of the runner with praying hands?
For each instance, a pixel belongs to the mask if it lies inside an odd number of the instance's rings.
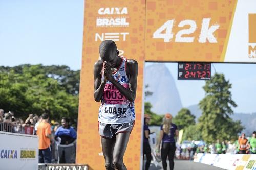
[[[105,40],[99,45],[99,55],[101,60],[107,61],[111,68],[117,66],[118,54],[116,44],[112,40]]]

